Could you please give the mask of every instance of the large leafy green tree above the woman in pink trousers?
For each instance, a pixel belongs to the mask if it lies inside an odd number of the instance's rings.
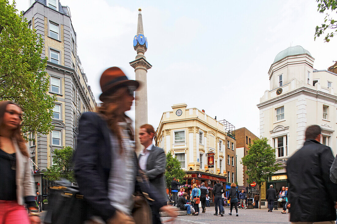
[[[15,1],[0,0],[0,101],[23,109],[22,131],[48,134],[52,129],[55,96],[48,94],[47,58],[41,59],[43,39],[28,28]]]

